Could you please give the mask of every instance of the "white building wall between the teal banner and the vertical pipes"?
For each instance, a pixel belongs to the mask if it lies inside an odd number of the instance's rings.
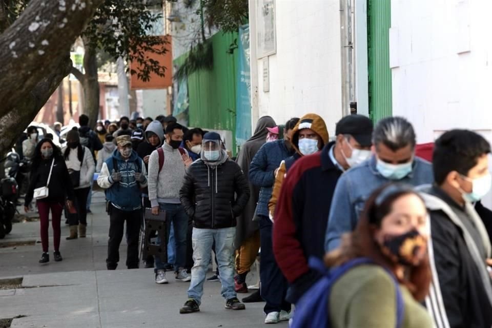
[[[254,0],[250,0],[250,17],[252,5]],[[252,101],[253,117],[256,113],[259,117],[270,115],[277,124],[285,124],[291,117],[317,113],[334,135],[335,124],[342,117],[339,9],[339,1],[331,0],[275,2],[277,53],[269,57],[270,91],[263,92],[259,59],[257,72],[251,75],[256,76],[258,86]],[[251,29],[251,33],[255,31]],[[256,54],[251,49],[253,60]],[[254,86],[253,81],[253,92]],[[253,122],[253,130],[255,125]]]

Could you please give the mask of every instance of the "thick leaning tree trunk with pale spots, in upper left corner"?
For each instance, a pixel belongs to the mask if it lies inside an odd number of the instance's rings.
[[[14,24],[0,34],[0,117],[10,115],[39,81],[58,70],[59,63],[52,58],[70,51],[103,1],[31,0]]]

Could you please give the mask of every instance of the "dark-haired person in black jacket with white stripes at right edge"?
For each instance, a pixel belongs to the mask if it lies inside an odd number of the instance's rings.
[[[434,186],[421,188],[432,236],[426,306],[436,327],[492,326],[490,241],[473,205],[490,190],[489,153],[488,142],[473,131],[444,133],[434,148]]]

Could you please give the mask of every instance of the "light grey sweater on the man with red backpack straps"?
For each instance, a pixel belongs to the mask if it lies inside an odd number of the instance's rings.
[[[179,149],[173,149],[167,142],[164,142],[162,149],[164,163],[160,171],[157,150],[149,158],[149,200],[152,207],[159,206],[159,203],[179,204],[179,189],[186,173]]]

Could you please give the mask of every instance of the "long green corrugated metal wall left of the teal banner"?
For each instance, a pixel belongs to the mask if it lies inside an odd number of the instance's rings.
[[[237,50],[234,54],[227,51],[237,33],[218,32],[211,37],[214,51],[214,68],[211,71],[198,71],[188,76],[189,125],[203,129],[232,131],[236,149],[236,70],[238,65]],[[179,65],[188,53],[174,60]]]

